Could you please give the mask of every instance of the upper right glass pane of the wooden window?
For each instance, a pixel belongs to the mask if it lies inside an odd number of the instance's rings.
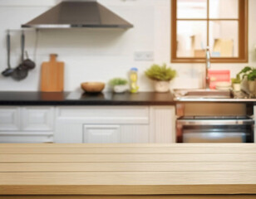
[[[209,0],[209,18],[239,18],[239,0]]]

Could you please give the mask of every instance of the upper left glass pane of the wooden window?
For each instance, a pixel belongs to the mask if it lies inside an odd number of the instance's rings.
[[[177,18],[206,18],[207,0],[177,0]]]

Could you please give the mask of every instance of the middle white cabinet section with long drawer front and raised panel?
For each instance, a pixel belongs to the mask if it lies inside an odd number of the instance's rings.
[[[148,106],[57,107],[55,141],[59,143],[148,143],[149,124],[150,108]]]

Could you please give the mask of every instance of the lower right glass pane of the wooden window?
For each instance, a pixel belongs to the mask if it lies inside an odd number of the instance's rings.
[[[238,57],[238,21],[209,22],[209,46],[214,57]]]

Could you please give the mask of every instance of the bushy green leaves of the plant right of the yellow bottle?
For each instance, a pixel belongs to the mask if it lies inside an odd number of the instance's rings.
[[[145,75],[151,80],[170,81],[177,75],[176,70],[168,68],[166,64],[163,66],[152,65],[148,70],[145,70]]]

